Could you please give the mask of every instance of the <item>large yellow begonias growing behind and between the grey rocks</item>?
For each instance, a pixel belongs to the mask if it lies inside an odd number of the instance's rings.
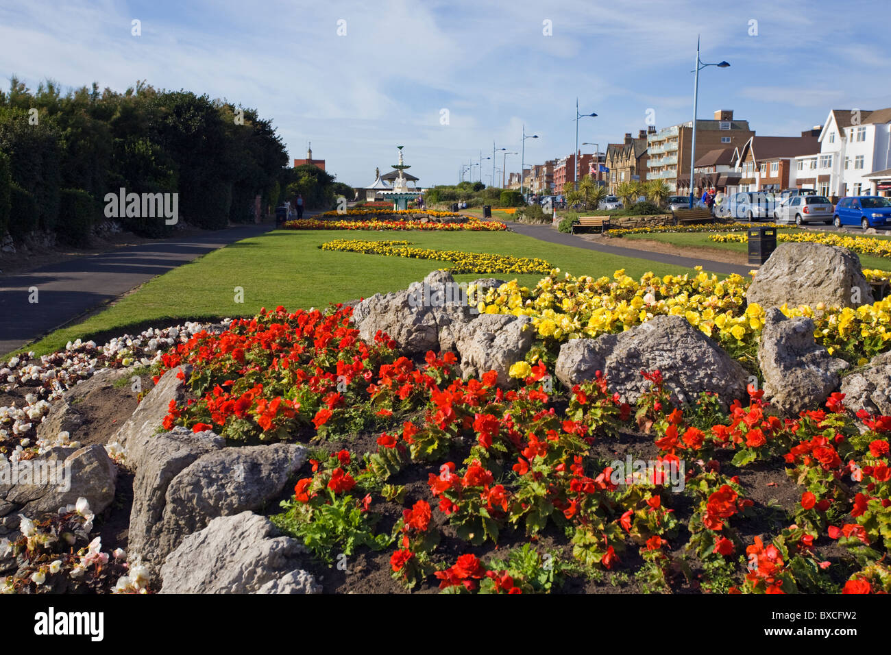
[[[703,272],[695,275],[645,274],[640,280],[620,270],[613,278],[560,276],[560,270],[533,289],[509,282],[488,291],[479,310],[486,314],[527,315],[541,338],[530,358],[552,362],[560,343],[578,337],[623,332],[657,315],[683,315],[744,364],[753,364],[764,326],[764,308],[746,305],[748,280],[732,274],[725,280]],[[814,337],[830,354],[850,362],[891,348],[891,299],[856,309],[781,307],[787,316],[810,316]],[[534,361],[534,360],[533,360]],[[751,367],[751,366],[750,366]]]

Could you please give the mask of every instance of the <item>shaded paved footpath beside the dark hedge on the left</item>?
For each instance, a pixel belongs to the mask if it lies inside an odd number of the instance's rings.
[[[274,222],[127,246],[0,278],[0,354],[21,348],[111,299],[229,243],[273,229]],[[30,303],[37,287],[37,303]]]

